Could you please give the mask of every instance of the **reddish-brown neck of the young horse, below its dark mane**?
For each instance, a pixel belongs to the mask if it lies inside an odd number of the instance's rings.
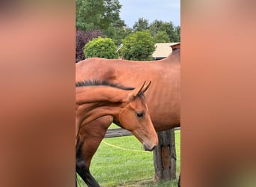
[[[78,123],[90,123],[105,115],[118,117],[130,91],[108,86],[76,88],[76,117]]]

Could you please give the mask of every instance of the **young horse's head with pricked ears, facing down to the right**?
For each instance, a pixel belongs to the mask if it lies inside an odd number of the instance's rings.
[[[131,91],[119,114],[119,121],[124,129],[129,130],[144,145],[144,150],[153,150],[158,144],[158,137],[150,119],[144,92],[151,82]]]

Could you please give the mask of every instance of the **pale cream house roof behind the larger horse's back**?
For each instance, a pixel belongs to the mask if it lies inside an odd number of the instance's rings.
[[[177,45],[180,43],[156,43],[156,50],[153,52],[153,58],[165,58],[171,54],[171,46]]]

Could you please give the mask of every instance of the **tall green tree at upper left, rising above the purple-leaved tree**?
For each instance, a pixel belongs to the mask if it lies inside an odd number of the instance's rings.
[[[120,19],[120,9],[118,0],[76,0],[76,29],[107,29]]]

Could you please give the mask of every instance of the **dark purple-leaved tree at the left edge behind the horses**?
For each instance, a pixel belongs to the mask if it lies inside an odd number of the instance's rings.
[[[93,40],[95,37],[103,37],[101,31],[76,31],[76,62],[85,60],[84,47],[85,44]]]

